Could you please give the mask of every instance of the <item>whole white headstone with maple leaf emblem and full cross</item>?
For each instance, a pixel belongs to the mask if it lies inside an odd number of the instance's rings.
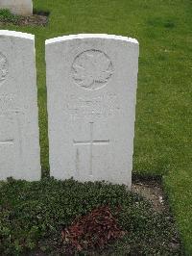
[[[138,42],[46,40],[51,175],[132,184]]]

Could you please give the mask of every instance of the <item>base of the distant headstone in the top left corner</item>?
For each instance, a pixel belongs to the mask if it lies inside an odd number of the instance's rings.
[[[33,14],[32,0],[0,0],[0,9],[9,9],[11,13],[28,16]]]

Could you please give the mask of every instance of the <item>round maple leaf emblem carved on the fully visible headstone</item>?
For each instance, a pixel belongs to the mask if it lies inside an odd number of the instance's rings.
[[[107,54],[99,50],[87,50],[79,54],[71,68],[76,84],[86,90],[106,86],[113,73],[113,65]]]

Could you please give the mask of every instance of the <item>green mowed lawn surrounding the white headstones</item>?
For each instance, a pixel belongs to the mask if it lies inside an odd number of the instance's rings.
[[[187,255],[192,255],[192,2],[190,0],[34,0],[43,27],[0,26],[36,35],[43,174],[48,174],[44,42],[107,33],[140,43],[133,171],[163,175]]]

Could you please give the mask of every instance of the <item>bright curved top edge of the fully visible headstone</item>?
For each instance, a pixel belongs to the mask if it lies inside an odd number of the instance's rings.
[[[51,43],[56,43],[56,42],[66,41],[66,40],[87,39],[87,38],[114,39],[114,40],[130,42],[132,44],[138,45],[138,41],[134,38],[127,38],[127,37],[108,35],[108,34],[79,34],[79,35],[63,36],[58,38],[47,39],[45,41],[45,44],[51,44]]]

